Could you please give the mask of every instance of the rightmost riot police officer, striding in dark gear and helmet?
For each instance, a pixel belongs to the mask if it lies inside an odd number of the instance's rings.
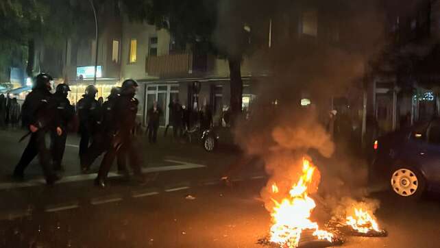
[[[138,182],[145,182],[140,170],[140,158],[134,147],[133,130],[136,127],[136,114],[138,112],[138,100],[134,98],[138,84],[133,79],[127,79],[121,87],[121,95],[114,102],[112,120],[108,126],[109,134],[112,135],[110,146],[106,151],[95,184],[102,188],[106,187],[106,178],[110,166],[117,153],[123,149],[132,166]]]

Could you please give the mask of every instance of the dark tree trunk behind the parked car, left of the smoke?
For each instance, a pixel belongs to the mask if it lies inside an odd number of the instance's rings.
[[[231,122],[241,114],[241,101],[243,95],[243,80],[241,79],[241,58],[228,58],[231,89]]]

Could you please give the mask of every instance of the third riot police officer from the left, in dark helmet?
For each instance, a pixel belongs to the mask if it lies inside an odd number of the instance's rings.
[[[101,121],[101,109],[98,101],[95,99],[98,90],[94,85],[86,87],[86,92],[82,99],[77,103],[77,114],[80,119],[80,162],[82,171],[86,171],[87,167],[84,164],[84,155],[87,152],[90,140],[99,129]]]

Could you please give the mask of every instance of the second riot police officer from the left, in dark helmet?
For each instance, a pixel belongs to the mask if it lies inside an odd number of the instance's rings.
[[[66,148],[67,127],[75,115],[75,110],[67,95],[71,91],[69,85],[58,84],[56,92],[51,97],[51,106],[56,108],[55,118],[58,126],[62,129],[62,134],[58,136],[56,132],[51,132],[51,152],[53,160],[53,169],[56,171],[62,170],[61,162]]]

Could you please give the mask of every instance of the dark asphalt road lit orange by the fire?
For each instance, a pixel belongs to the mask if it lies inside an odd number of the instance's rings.
[[[259,193],[267,177],[254,166],[236,173],[231,186],[221,184],[234,153],[166,140],[140,145],[149,184],[114,175],[101,190],[94,175],[80,175],[71,136],[64,181],[47,187],[37,164],[23,184],[8,178],[25,145],[16,142],[20,134],[0,132],[0,247],[263,247],[257,241],[267,235],[270,216]],[[418,202],[387,192],[370,197],[380,200],[376,216],[389,236],[347,236],[343,247],[439,247],[438,195]]]

